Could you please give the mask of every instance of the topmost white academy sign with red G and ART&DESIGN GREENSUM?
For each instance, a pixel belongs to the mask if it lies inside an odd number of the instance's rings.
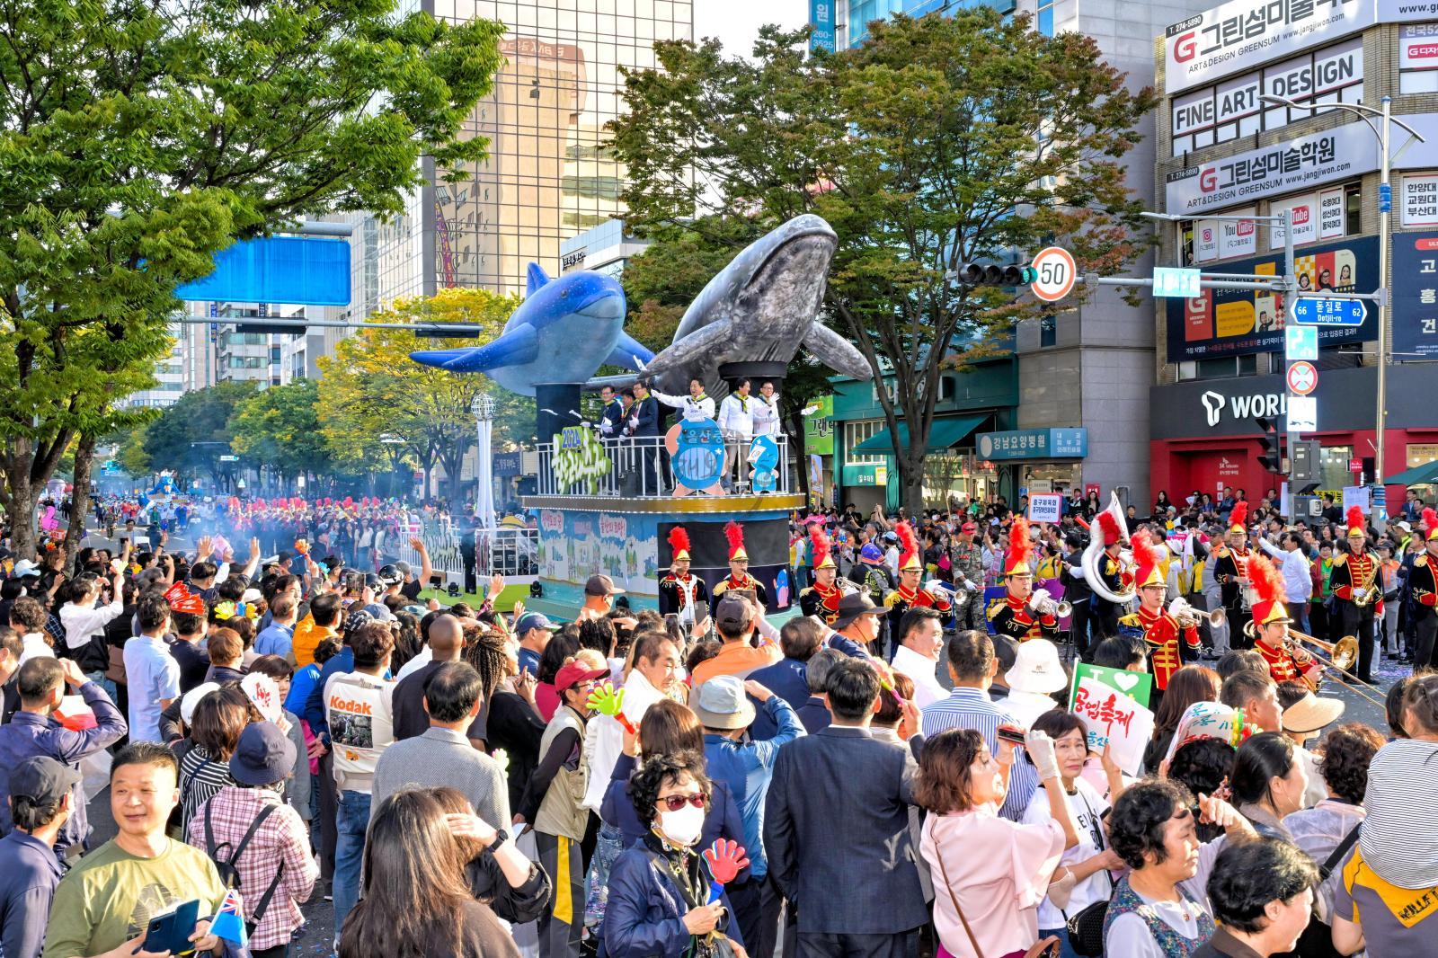
[[[1356,33],[1373,0],[1231,0],[1163,32],[1163,91],[1178,93]]]

